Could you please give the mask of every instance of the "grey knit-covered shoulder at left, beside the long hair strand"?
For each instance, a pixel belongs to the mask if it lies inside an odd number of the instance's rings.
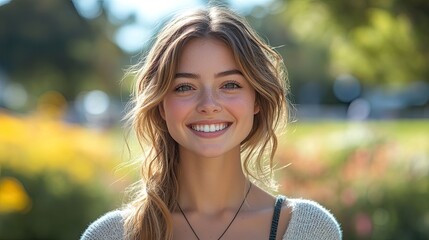
[[[118,240],[124,238],[124,211],[108,212],[95,220],[81,236],[81,240]]]

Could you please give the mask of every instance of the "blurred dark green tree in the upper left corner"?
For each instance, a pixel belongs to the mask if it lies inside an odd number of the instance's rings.
[[[0,7],[0,69],[30,102],[48,90],[68,100],[95,88],[118,94],[125,54],[108,35],[114,27],[103,9],[85,19],[72,1],[11,1]]]

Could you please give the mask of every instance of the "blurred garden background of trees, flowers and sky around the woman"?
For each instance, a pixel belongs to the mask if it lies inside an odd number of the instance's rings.
[[[344,239],[428,239],[429,2],[218,2],[288,68],[279,192],[330,209]],[[0,0],[0,239],[77,239],[126,202],[125,70],[173,13],[206,4]]]

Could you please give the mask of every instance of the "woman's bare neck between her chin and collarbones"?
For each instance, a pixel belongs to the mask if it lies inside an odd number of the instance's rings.
[[[178,201],[190,210],[210,214],[236,209],[249,187],[239,149],[216,158],[181,152],[179,169]]]

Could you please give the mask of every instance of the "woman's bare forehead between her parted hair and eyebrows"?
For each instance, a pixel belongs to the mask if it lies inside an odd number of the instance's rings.
[[[178,60],[178,71],[238,69],[231,48],[214,38],[191,39],[182,48]]]

